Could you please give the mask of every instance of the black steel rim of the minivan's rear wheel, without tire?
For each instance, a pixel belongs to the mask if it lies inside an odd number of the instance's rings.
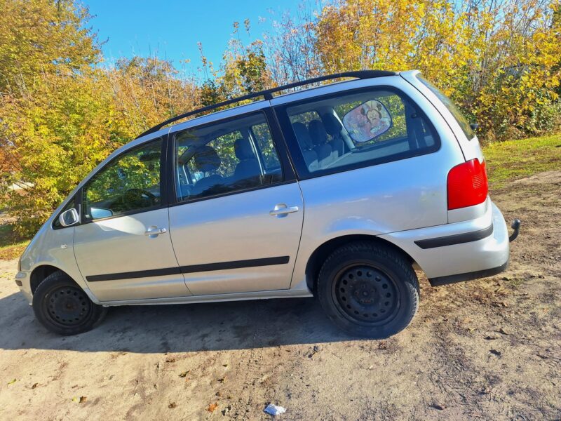
[[[400,291],[383,270],[354,264],[340,270],[332,284],[332,295],[342,314],[367,326],[391,321],[400,309]]]

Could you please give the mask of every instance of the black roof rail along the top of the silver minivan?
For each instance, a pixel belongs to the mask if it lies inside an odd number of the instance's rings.
[[[155,133],[158,130],[160,130],[161,128],[163,128],[164,126],[168,126],[168,124],[173,123],[174,121],[184,119],[184,118],[192,116],[194,114],[200,114],[201,112],[210,111],[211,109],[224,107],[224,105],[230,105],[230,104],[234,104],[236,102],[240,102],[240,101],[243,101],[243,100],[249,100],[251,98],[257,98],[257,97],[260,97],[260,96],[262,96],[265,100],[272,100],[273,99],[273,93],[276,93],[276,92],[279,92],[279,91],[286,91],[287,89],[296,88],[297,86],[310,85],[311,83],[317,83],[317,82],[320,82],[320,81],[327,81],[327,80],[330,80],[330,79],[341,79],[341,78],[344,78],[344,77],[354,77],[356,79],[371,79],[371,78],[374,78],[374,77],[381,77],[381,76],[393,76],[395,74],[397,74],[397,73],[396,72],[386,72],[385,70],[357,70],[355,72],[342,72],[342,73],[335,73],[335,74],[327,74],[325,76],[313,77],[311,79],[306,79],[304,81],[288,83],[287,85],[277,86],[276,88],[271,88],[271,89],[266,89],[265,91],[248,93],[248,95],[243,95],[243,96],[238,97],[238,98],[232,98],[231,100],[218,102],[217,104],[208,105],[207,107],[198,108],[198,109],[195,109],[194,111],[186,112],[184,114],[180,114],[178,116],[172,117],[171,119],[167,119],[167,120],[165,120],[165,121],[163,121],[159,124],[156,124],[156,126],[154,126],[152,128],[149,128],[147,131],[145,131],[141,135],[137,136],[137,139],[142,138],[142,136],[144,136],[144,135],[149,135],[150,133]]]

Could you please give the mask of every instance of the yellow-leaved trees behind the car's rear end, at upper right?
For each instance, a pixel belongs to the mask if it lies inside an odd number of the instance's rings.
[[[558,0],[347,0],[315,24],[325,72],[420,69],[459,103],[480,135],[555,127],[561,56]]]

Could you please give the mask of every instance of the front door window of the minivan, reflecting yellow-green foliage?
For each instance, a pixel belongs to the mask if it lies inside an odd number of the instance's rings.
[[[118,156],[83,187],[86,220],[149,210],[161,204],[161,139]]]

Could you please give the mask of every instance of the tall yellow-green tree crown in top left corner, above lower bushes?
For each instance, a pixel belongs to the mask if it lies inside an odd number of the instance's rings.
[[[71,0],[0,0],[0,93],[25,95],[40,74],[100,62],[88,9]]]

